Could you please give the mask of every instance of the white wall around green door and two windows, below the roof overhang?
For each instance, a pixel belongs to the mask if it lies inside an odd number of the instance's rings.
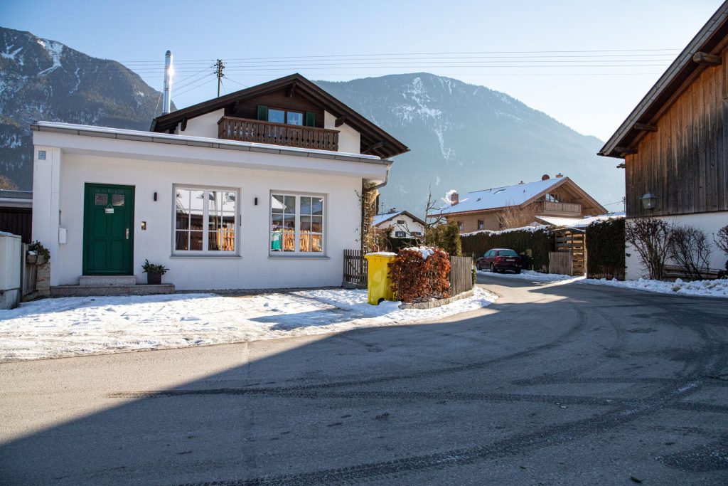
[[[361,179],[287,174],[274,171],[197,167],[170,162],[120,160],[66,154],[60,196],[68,243],[58,246],[60,267],[52,285],[78,283],[82,273],[84,183],[124,184],[135,187],[134,273],[145,283],[144,259],[164,264],[164,281],[177,289],[255,289],[341,284],[344,248],[357,248],[359,227],[356,190]],[[173,184],[229,187],[240,191],[240,257],[172,256]],[[328,259],[281,259],[269,256],[269,191],[314,192],[327,197],[325,235]],[[153,195],[157,192],[157,202]],[[258,205],[254,198],[258,197]],[[141,230],[141,222],[147,230]]]

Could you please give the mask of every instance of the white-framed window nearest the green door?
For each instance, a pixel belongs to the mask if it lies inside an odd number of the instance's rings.
[[[233,254],[238,192],[183,186],[174,190],[175,254]]]

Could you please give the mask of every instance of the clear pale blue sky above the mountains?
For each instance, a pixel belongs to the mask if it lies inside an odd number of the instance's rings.
[[[122,61],[159,90],[164,53],[172,50],[177,68],[173,100],[178,107],[216,95],[217,86],[207,74],[211,69],[206,68],[215,58],[228,64],[229,80],[223,85],[228,92],[296,71],[309,79],[331,80],[429,71],[503,91],[579,133],[604,140],[721,2],[4,0],[2,4],[0,25]],[[535,52],[586,50],[625,52]],[[504,51],[512,53],[493,53]],[[427,55],[391,55],[412,52]],[[332,55],[341,57],[301,59]],[[568,57],[553,57],[557,55]]]

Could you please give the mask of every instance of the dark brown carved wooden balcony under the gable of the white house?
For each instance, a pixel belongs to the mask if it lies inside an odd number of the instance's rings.
[[[339,150],[339,130],[261,122],[257,119],[222,117],[218,122],[218,138],[302,149]]]

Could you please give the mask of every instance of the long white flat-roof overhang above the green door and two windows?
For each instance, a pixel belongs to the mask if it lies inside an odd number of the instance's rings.
[[[325,173],[359,177],[374,183],[387,178],[391,160],[269,144],[179,136],[167,133],[38,122],[31,126],[33,144],[70,154],[92,154],[133,160],[181,162],[255,168],[265,171]],[[280,157],[290,156],[290,157]]]

